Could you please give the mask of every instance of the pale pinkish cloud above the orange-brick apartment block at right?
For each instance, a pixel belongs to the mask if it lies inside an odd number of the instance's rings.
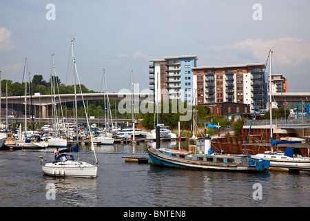
[[[264,41],[262,39],[246,39],[230,45],[211,46],[207,50],[215,52],[235,52],[236,55],[249,55],[265,61],[269,50],[280,65],[297,65],[310,60],[310,40],[296,37],[283,37]]]

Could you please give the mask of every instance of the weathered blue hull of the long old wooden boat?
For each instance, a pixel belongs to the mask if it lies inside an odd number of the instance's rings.
[[[265,172],[269,169],[269,161],[256,162],[255,165],[242,165],[233,163],[202,162],[170,157],[159,153],[156,149],[148,148],[149,161],[158,166],[169,166],[181,169],[202,169],[207,171],[239,171],[239,172]]]

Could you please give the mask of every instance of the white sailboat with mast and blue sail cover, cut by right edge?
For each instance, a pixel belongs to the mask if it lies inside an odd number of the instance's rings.
[[[265,153],[259,153],[252,155],[253,159],[263,159],[270,161],[271,170],[285,170],[285,171],[310,171],[310,159],[309,157],[303,157],[300,148],[287,148],[285,153],[282,151],[273,151],[273,146],[277,146],[280,143],[291,143],[289,141],[277,142],[273,140],[273,128],[272,128],[272,102],[271,102],[271,71],[272,71],[272,51],[269,50],[269,111],[270,111],[270,137],[271,137],[271,151],[265,151]],[[255,114],[255,113],[254,113]],[[250,127],[251,130],[251,127]],[[249,133],[250,133],[249,130]],[[249,136],[249,135],[248,135]],[[309,152],[309,148],[308,148]],[[309,154],[308,154],[309,155]]]

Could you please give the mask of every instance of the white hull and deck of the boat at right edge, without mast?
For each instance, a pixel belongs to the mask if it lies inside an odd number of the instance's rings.
[[[296,171],[310,171],[309,157],[303,157],[300,153],[300,148],[291,147],[282,151],[265,151],[251,156],[253,159],[270,160],[271,170],[296,170]]]

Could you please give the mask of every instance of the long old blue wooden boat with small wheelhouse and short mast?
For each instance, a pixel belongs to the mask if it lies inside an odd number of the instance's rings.
[[[195,122],[193,128],[195,128]],[[156,135],[159,136],[158,133]],[[159,140],[159,137],[156,140]],[[149,147],[147,152],[149,153],[149,161],[152,164],[182,169],[265,172],[269,169],[270,164],[268,160],[251,159],[250,155],[213,153],[211,150],[211,137],[196,137],[195,129],[193,137],[189,139],[189,151],[160,148],[159,142],[156,142],[156,148]]]

